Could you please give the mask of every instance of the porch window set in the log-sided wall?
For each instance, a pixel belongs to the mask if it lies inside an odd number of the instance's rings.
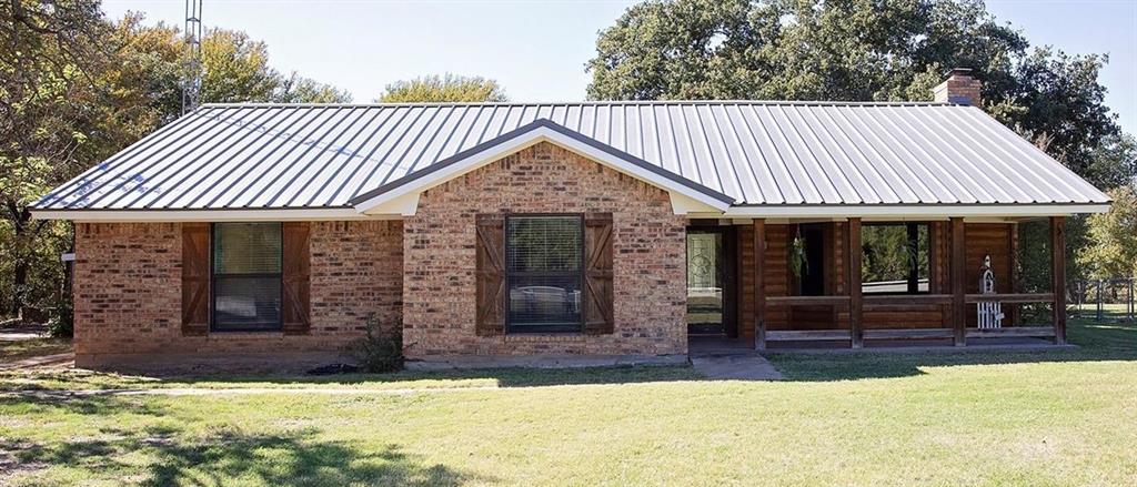
[[[928,292],[928,224],[866,224],[861,230],[862,292]]]

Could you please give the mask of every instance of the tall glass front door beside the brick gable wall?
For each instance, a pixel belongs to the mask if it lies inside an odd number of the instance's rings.
[[[687,232],[687,333],[722,335],[725,329],[727,262],[722,232]]]

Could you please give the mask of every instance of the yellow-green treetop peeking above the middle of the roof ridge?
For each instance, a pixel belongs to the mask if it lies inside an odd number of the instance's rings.
[[[508,101],[505,90],[493,79],[479,76],[446,74],[398,81],[387,85],[377,101],[406,102],[479,102]]]

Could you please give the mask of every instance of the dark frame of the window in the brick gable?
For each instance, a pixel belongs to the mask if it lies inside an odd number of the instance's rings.
[[[578,244],[580,245],[580,267],[575,271],[514,271],[509,269],[511,255],[513,255],[512,245],[509,245],[509,222],[515,218],[566,218],[575,217],[580,222],[580,233],[578,235]],[[558,334],[583,334],[584,333],[584,320],[588,313],[584,312],[586,302],[584,293],[587,286],[586,278],[588,270],[586,266],[588,265],[588,249],[586,249],[586,237],[584,237],[584,213],[506,213],[505,216],[505,232],[503,233],[503,243],[505,245],[505,262],[503,262],[503,271],[505,274],[505,333],[506,334],[541,334],[541,333],[558,333]],[[511,294],[513,293],[513,279],[514,277],[564,277],[575,275],[580,283],[580,321],[579,322],[564,322],[564,324],[549,324],[549,325],[515,325],[513,321],[513,299]]]

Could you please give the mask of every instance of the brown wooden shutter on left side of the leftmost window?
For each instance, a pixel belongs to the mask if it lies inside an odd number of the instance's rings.
[[[182,224],[182,335],[209,333],[209,224]]]

